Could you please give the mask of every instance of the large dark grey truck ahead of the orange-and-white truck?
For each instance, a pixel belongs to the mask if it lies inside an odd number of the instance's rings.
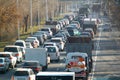
[[[88,55],[87,71],[90,73],[92,70],[92,50],[94,43],[90,37],[87,36],[71,36],[66,41],[66,55],[70,52],[86,53]],[[74,54],[74,53],[73,53]]]

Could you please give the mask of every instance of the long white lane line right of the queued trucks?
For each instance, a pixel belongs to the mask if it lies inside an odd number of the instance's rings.
[[[94,79],[96,61],[97,61],[97,57],[98,57],[98,53],[99,53],[99,51],[97,51],[97,50],[100,49],[100,36],[101,36],[101,33],[102,33],[102,32],[100,31],[100,33],[99,33],[99,38],[97,39],[97,43],[96,43],[97,49],[96,49],[96,51],[95,51],[95,60],[94,60],[94,63],[93,63],[92,77],[91,77],[90,80],[93,80],[93,79]]]

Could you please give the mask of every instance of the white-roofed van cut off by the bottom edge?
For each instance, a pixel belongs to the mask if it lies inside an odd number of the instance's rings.
[[[75,80],[74,72],[39,72],[36,80]]]

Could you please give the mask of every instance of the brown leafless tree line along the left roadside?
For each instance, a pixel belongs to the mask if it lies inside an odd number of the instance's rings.
[[[0,41],[17,38],[18,20],[20,30],[27,32],[31,17],[30,1],[31,0],[0,0]],[[47,0],[47,3],[46,0],[32,0],[33,26],[38,25],[38,18],[40,21],[46,19],[46,4],[48,6],[48,16],[58,16],[60,13],[59,3],[58,0]]]

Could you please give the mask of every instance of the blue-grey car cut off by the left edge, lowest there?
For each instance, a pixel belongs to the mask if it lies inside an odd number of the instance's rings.
[[[8,58],[0,57],[0,72],[6,72],[9,69],[10,62]]]

